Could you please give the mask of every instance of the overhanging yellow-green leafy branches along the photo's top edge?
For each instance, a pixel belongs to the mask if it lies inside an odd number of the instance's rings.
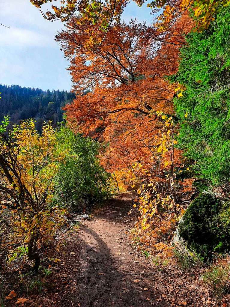
[[[56,0],[30,0],[30,2],[41,9],[45,3],[54,3]],[[138,6],[142,6],[145,1],[133,0]],[[46,10],[43,16],[51,21],[61,19],[68,20],[74,13],[80,13],[80,23],[93,26],[90,32],[90,39],[94,40],[98,30],[102,30],[106,36],[108,29],[113,21],[118,22],[120,16],[129,2],[127,0],[113,0],[100,2],[97,0],[79,1],[79,0],[62,0],[61,6],[51,5],[51,10]],[[161,30],[168,30],[171,25],[180,18],[181,15],[192,11],[197,19],[196,30],[202,31],[209,27],[211,21],[215,20],[216,14],[223,7],[229,6],[228,0],[154,0],[147,4],[152,9],[152,13],[157,14],[158,21],[156,26]],[[163,12],[162,12],[163,11]],[[86,30],[87,33],[87,30]],[[89,32],[88,32],[89,33]],[[102,41],[103,41],[102,39]]]

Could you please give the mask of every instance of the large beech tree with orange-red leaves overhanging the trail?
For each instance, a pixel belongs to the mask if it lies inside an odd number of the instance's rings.
[[[181,213],[182,190],[191,192],[191,181],[174,183],[184,165],[181,151],[174,148],[172,99],[183,95],[183,89],[170,84],[168,76],[177,71],[179,48],[193,22],[183,14],[164,32],[154,25],[120,22],[104,39],[103,31],[98,32],[97,44],[89,44],[91,28],[87,30],[79,18],[72,17],[67,30],[56,37],[70,61],[78,95],[65,107],[68,125],[103,142],[101,163],[135,189],[141,212],[138,229],[156,234],[156,225],[167,220],[164,233],[171,234]],[[149,237],[145,234],[143,240],[150,242]],[[151,237],[156,242],[156,235]]]

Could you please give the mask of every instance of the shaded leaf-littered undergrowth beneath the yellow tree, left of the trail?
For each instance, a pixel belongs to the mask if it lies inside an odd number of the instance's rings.
[[[67,232],[63,228],[57,232],[53,243],[46,246],[45,251],[38,250],[40,254],[43,254],[43,257],[37,274],[32,270],[32,263],[28,262],[26,255],[21,255],[11,262],[7,262],[6,259],[2,261],[2,267],[0,266],[0,307],[8,306],[9,303],[15,304],[20,298],[26,299],[25,305],[27,306],[32,304],[33,298],[42,295],[42,293],[55,291],[53,281],[63,268],[62,248],[66,244],[63,235],[64,233],[72,235],[78,231],[79,227],[80,223],[78,222],[72,224]],[[13,294],[10,295],[10,293]],[[10,299],[11,296],[12,299]]]

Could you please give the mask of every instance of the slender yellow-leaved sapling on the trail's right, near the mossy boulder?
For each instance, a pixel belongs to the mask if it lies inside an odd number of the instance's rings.
[[[161,121],[158,133],[151,140],[151,157],[148,163],[135,162],[129,171],[131,188],[137,196],[130,214],[137,209],[139,212],[132,239],[140,240],[149,251],[171,257],[173,247],[170,242],[176,223],[184,212],[181,194],[193,191],[193,179],[180,180],[185,165],[182,151],[175,148],[178,131],[172,116],[160,111],[156,113]]]

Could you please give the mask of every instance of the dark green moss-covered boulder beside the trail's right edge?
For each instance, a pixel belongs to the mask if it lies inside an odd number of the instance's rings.
[[[187,249],[206,259],[212,257],[212,252],[229,251],[230,200],[201,193],[183,215],[177,236]]]

